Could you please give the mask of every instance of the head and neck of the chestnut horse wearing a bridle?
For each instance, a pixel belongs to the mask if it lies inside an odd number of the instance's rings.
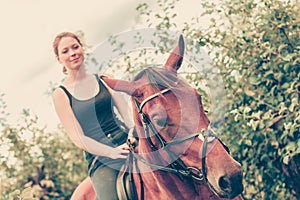
[[[131,96],[137,199],[242,199],[241,164],[212,128],[200,93],[177,74],[184,47],[181,35],[164,67],[148,67],[133,81],[104,78]]]

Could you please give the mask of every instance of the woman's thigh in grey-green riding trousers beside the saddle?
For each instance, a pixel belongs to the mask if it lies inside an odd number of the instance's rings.
[[[101,166],[93,173],[91,180],[98,200],[117,200],[116,180],[118,172],[107,166]]]

